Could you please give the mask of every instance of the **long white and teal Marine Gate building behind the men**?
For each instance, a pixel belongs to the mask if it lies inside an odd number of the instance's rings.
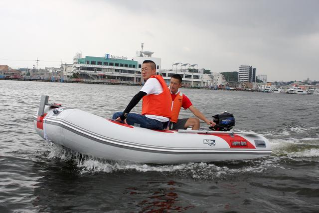
[[[113,83],[134,83],[143,84],[141,79],[141,68],[143,61],[152,60],[157,65],[157,74],[163,76],[167,84],[173,74],[182,76],[183,86],[211,86],[212,79],[209,75],[203,74],[203,69],[194,69],[197,64],[190,65],[190,69],[161,69],[161,58],[153,57],[154,52],[137,51],[132,60],[124,56],[105,54],[104,57],[85,56],[77,53],[73,58],[72,71],[68,65],[63,67],[64,76],[71,77],[78,73],[78,77],[84,80],[103,80]],[[197,65],[198,66],[198,65]]]

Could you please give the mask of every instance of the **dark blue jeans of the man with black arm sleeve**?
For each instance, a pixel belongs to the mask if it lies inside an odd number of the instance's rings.
[[[117,119],[122,114],[123,112],[116,112],[113,114],[112,119]],[[136,113],[129,113],[128,117],[126,118],[126,122],[132,126],[134,126],[134,124],[140,124],[140,126],[143,128],[158,129],[158,130],[163,130],[164,123],[165,123],[165,122],[160,122],[156,119],[147,118],[145,115],[140,115]]]

